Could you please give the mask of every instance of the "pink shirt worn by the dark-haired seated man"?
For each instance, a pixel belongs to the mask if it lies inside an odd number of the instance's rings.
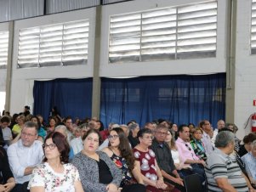
[[[180,160],[182,163],[184,163],[186,160],[199,160],[190,142],[185,142],[181,138],[178,138],[176,140],[176,146],[178,148]]]

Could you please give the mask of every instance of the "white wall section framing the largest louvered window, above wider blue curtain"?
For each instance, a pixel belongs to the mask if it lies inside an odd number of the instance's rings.
[[[108,63],[108,32],[111,15],[128,14],[155,8],[179,6],[199,0],[139,0],[111,4],[103,7],[102,39],[100,50],[100,76],[157,76],[173,74],[209,74],[225,72],[225,18],[226,0],[218,1],[217,57],[211,59],[180,59],[153,62],[134,62],[126,64]]]

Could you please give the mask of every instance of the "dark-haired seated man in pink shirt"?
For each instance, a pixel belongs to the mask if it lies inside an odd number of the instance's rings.
[[[176,140],[176,145],[179,151],[179,156],[181,162],[184,164],[189,164],[192,167],[191,173],[197,173],[201,181],[205,180],[204,177],[204,166],[205,161],[200,160],[199,157],[196,156],[190,140],[190,128],[186,125],[180,125],[178,128],[179,138]],[[182,172],[185,176],[188,175],[188,172]],[[191,174],[189,173],[189,174]]]

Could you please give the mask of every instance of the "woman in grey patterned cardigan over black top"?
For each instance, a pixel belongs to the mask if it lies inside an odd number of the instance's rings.
[[[100,145],[100,133],[90,129],[82,138],[83,149],[72,160],[82,181],[82,188],[89,192],[118,192],[122,181],[122,172],[103,151],[97,151]]]

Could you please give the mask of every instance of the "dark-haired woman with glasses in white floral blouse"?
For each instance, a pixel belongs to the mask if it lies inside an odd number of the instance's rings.
[[[68,163],[69,144],[61,133],[49,133],[43,144],[43,164],[35,168],[31,192],[83,192],[77,168]]]

